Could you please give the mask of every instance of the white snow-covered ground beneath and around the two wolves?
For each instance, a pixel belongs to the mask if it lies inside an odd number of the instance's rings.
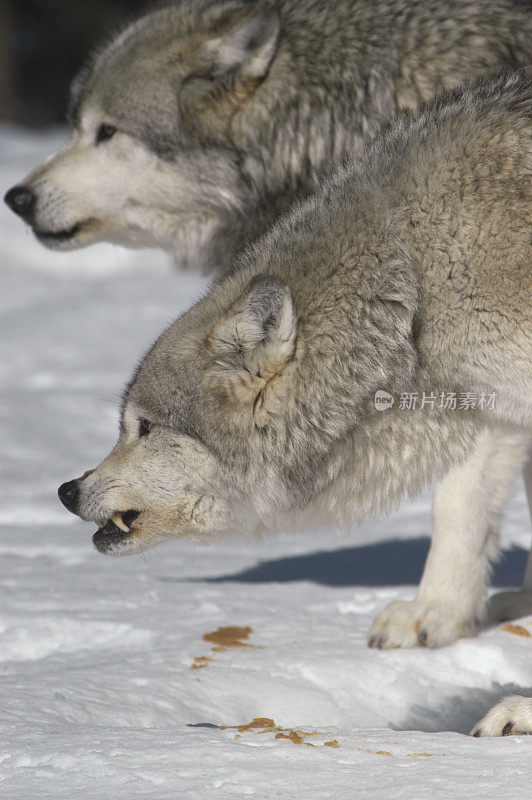
[[[57,137],[0,132],[2,193]],[[205,282],[151,251],[50,253],[5,208],[0,241],[2,800],[530,797],[532,737],[463,734],[531,694],[532,639],[366,647],[375,614],[415,593],[428,495],[341,538],[92,548],[57,486],[108,452],[139,355]],[[495,584],[517,586],[522,487],[503,540]],[[251,646],[213,649],[203,636],[224,626],[251,628]],[[305,735],[222,729],[254,718]]]

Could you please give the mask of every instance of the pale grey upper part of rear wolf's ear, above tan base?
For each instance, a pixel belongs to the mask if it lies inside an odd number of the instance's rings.
[[[266,3],[221,3],[212,11],[202,56],[213,74],[238,70],[245,79],[268,72],[279,36],[277,10]]]

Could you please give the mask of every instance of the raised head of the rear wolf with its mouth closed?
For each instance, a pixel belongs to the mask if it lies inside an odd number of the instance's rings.
[[[128,27],[74,80],[70,141],[6,195],[47,247],[163,245],[219,266],[255,201],[231,122],[268,73],[263,3],[181,3]],[[225,266],[225,264],[223,264]]]

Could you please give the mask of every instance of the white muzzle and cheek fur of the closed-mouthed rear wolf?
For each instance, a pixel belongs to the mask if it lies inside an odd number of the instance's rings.
[[[221,217],[240,208],[236,171],[200,150],[163,160],[118,125],[98,143],[104,122],[112,124],[86,112],[72,138],[22,182],[37,196],[36,235],[59,250],[105,240],[201,259]]]

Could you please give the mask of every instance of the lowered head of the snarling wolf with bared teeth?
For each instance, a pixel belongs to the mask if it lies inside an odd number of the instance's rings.
[[[101,552],[253,532],[261,497],[282,502],[264,456],[296,349],[290,292],[259,276],[223,310],[231,295],[207,298],[163,333],[125,391],[113,451],[60,487],[69,510],[100,526]]]

